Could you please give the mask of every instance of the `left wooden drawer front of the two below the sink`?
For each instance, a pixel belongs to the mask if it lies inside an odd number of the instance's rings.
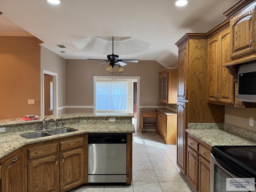
[[[58,143],[56,141],[34,144],[28,147],[28,159],[43,156],[43,155],[49,155],[57,152],[58,152]]]

